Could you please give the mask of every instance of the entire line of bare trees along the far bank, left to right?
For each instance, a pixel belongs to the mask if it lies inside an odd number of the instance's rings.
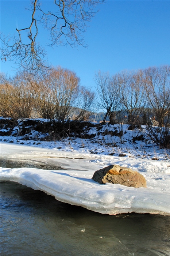
[[[103,123],[147,126],[158,144],[170,145],[170,65],[115,75],[97,72],[96,93],[81,86],[76,73],[51,68],[40,74],[0,74],[0,115],[12,118],[46,118],[54,125],[65,120],[89,120],[96,109]]]

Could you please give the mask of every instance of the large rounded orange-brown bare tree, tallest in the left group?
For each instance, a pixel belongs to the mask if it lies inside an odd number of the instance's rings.
[[[73,112],[79,95],[80,79],[76,74],[58,67],[39,79],[27,74],[27,80],[34,90],[40,116],[50,119],[53,124],[63,123]]]

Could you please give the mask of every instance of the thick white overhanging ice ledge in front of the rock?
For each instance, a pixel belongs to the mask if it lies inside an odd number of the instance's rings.
[[[169,191],[160,191],[156,184],[154,188],[129,188],[108,183],[101,185],[91,180],[93,173],[0,167],[0,181],[15,181],[55,196],[61,202],[102,214],[148,212],[170,215]]]

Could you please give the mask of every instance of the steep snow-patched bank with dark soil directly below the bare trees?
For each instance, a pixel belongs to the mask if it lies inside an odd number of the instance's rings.
[[[127,124],[66,122],[63,135],[62,130],[58,131],[45,119],[19,119],[16,124],[11,118],[0,117],[0,121],[0,142],[73,153],[170,160],[170,149],[151,140],[145,125],[139,129]]]

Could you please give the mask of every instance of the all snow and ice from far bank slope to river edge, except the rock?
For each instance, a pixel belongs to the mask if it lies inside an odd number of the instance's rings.
[[[95,128],[89,131],[95,132]],[[139,131],[126,131],[123,144],[117,136],[97,132],[93,140],[67,138],[55,142],[0,136],[1,158],[49,165],[49,170],[1,167],[0,179],[40,189],[62,202],[103,214],[170,215],[170,151],[159,149],[149,139],[132,142],[132,135],[139,136]],[[140,172],[147,180],[147,188],[101,185],[91,180],[96,170],[111,164]],[[50,170],[51,165],[61,166],[61,170]]]

